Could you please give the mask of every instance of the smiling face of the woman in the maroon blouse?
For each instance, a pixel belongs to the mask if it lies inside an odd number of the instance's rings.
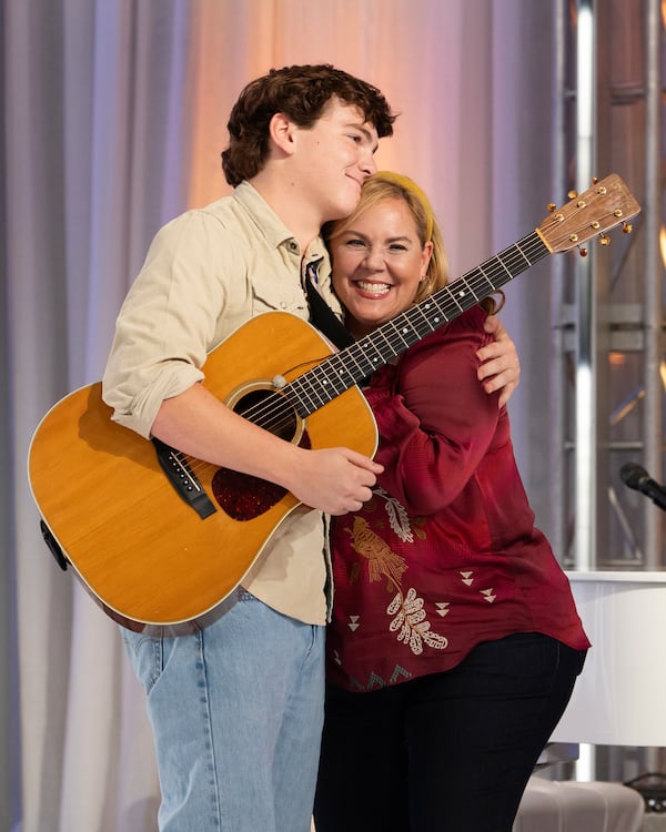
[[[411,306],[432,244],[421,246],[410,206],[387,197],[363,211],[330,241],[333,286],[356,337]]]

